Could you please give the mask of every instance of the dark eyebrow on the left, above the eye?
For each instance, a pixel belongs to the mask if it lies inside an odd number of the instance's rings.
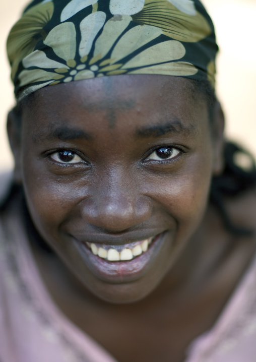
[[[92,139],[92,136],[89,133],[82,131],[79,128],[61,126],[61,127],[55,128],[53,131],[49,130],[48,132],[44,133],[43,135],[38,135],[38,136],[34,137],[35,142],[38,142],[38,141],[42,142],[45,139],[47,139],[47,140],[58,139],[60,141],[70,141],[70,140],[82,139],[82,140],[88,141],[88,140]]]

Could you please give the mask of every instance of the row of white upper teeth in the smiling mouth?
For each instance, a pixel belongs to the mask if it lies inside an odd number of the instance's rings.
[[[108,250],[103,247],[97,247],[93,243],[86,243],[91,249],[94,255],[98,255],[102,259],[107,259],[109,261],[119,261],[119,260],[132,260],[134,257],[141,255],[143,252],[148,250],[149,245],[152,243],[153,237],[143,240],[140,244],[136,245],[133,249],[129,249],[126,246],[118,252],[117,250],[110,248]]]

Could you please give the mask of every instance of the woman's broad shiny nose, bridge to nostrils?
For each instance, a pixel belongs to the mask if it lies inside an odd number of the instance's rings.
[[[112,179],[111,179],[112,178]],[[152,213],[150,198],[134,180],[100,177],[82,202],[82,217],[94,226],[120,232],[147,220]]]

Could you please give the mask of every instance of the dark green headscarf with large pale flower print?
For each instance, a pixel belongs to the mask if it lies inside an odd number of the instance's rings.
[[[199,0],[34,0],[7,50],[22,99],[48,85],[119,74],[214,85],[218,46]]]

